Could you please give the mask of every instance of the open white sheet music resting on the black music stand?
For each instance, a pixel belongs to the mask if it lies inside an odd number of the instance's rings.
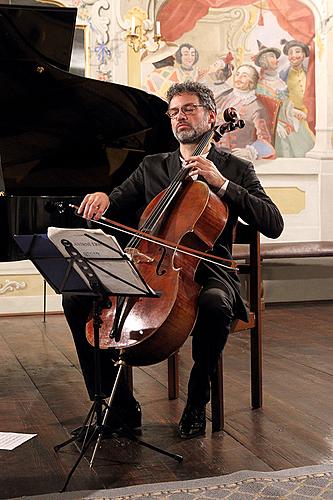
[[[135,267],[128,259],[126,260],[126,254],[114,236],[105,234],[101,229],[57,227],[49,227],[47,235],[64,257],[69,257],[69,255],[61,240],[70,241],[82,257],[88,259],[87,263],[110,293],[135,295],[140,292],[151,292]],[[80,268],[76,264],[74,268],[89,285],[88,279]],[[114,276],[110,276],[103,269]]]

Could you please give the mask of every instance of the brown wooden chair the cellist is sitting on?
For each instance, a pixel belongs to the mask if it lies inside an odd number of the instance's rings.
[[[251,403],[252,408],[262,406],[262,303],[261,303],[261,259],[260,234],[245,224],[238,224],[234,259],[239,261],[239,273],[245,275],[246,303],[249,312],[247,322],[236,320],[231,332],[250,330],[251,345]],[[179,354],[168,359],[169,399],[179,396]],[[217,372],[211,381],[212,430],[220,431],[224,427],[223,395],[223,355],[219,360]]]

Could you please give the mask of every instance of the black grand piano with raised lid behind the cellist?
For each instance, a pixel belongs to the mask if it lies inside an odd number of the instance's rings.
[[[176,147],[163,100],[68,71],[75,19],[72,8],[0,5],[2,261],[22,257],[13,234],[80,225],[68,201],[109,192],[144,155]]]

